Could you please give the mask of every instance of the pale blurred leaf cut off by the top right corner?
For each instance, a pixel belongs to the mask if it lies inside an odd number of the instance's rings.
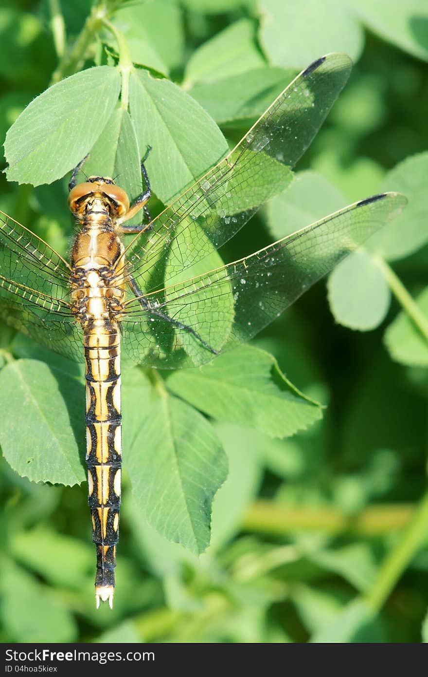
[[[367,28],[412,56],[428,61],[425,0],[352,0],[351,4]]]

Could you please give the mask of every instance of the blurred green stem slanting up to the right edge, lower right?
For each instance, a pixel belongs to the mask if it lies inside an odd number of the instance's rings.
[[[366,595],[366,602],[376,613],[381,609],[402,573],[426,540],[427,530],[428,492],[419,503],[402,538],[381,564],[373,587]]]

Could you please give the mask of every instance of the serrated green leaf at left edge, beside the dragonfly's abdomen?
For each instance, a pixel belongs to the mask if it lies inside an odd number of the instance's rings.
[[[86,479],[85,390],[76,378],[37,360],[12,362],[0,372],[0,409],[1,447],[17,473],[66,485]]]

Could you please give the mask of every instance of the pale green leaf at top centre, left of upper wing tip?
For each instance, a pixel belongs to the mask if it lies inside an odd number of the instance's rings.
[[[195,82],[210,83],[238,75],[245,83],[243,73],[265,64],[256,43],[254,22],[241,19],[224,28],[193,52],[187,62],[185,84],[188,86],[189,83]],[[247,92],[249,91],[247,86]]]

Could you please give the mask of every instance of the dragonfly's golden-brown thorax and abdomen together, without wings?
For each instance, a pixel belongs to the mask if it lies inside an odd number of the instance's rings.
[[[70,198],[74,200],[80,190],[78,185]],[[97,547],[95,600],[97,608],[100,601],[112,607],[122,465],[120,330],[115,318],[124,294],[123,247],[114,232],[107,196],[95,191],[76,197],[76,202],[84,218],[72,248],[70,286],[72,311],[82,327],[85,347],[86,460]]]

